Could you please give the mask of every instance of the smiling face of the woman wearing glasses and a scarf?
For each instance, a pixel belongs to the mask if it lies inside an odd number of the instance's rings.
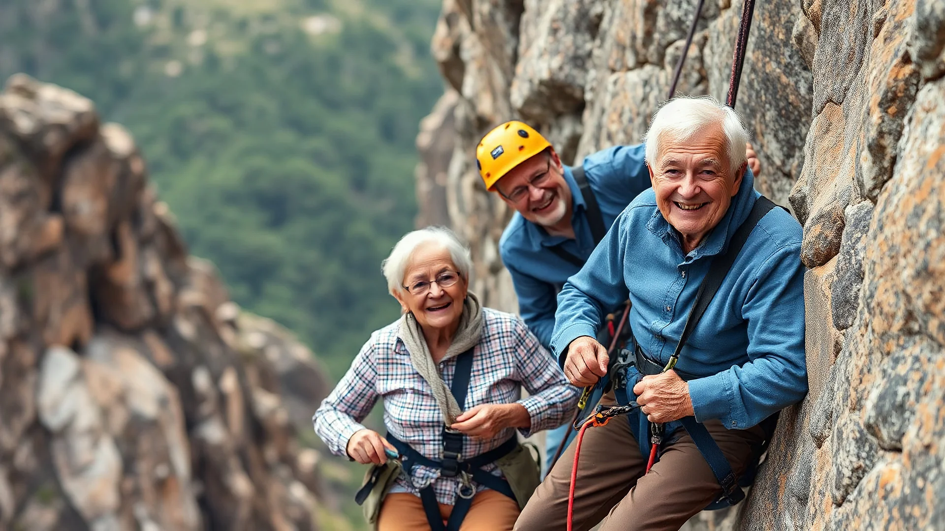
[[[414,250],[404,271],[404,285],[413,286],[437,278],[449,278],[446,273],[456,273],[450,252],[437,244],[424,244]],[[394,293],[405,312],[413,312],[424,331],[455,329],[463,313],[463,300],[468,289],[467,279],[458,275],[458,280],[448,287],[430,283],[429,291],[414,295],[407,289]]]

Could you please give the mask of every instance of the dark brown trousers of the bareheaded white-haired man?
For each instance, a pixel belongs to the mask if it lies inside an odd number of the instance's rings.
[[[613,395],[601,403],[613,403]],[[764,440],[758,426],[727,430],[718,420],[705,423],[736,474],[745,471],[751,446]],[[660,460],[646,475],[646,458],[626,418],[588,428],[581,445],[575,487],[575,529],[587,531],[606,517],[601,531],[676,531],[721,493],[712,469],[688,434],[663,446]],[[515,522],[515,531],[565,529],[575,443],[535,490]]]

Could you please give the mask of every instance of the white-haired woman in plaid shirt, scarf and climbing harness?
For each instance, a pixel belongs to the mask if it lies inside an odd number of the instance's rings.
[[[539,483],[516,430],[558,426],[576,404],[522,319],[480,306],[471,267],[451,231],[406,234],[383,265],[403,316],[370,335],[315,414],[333,453],[374,465],[358,502],[380,531],[511,529]],[[360,423],[379,398],[387,436]]]

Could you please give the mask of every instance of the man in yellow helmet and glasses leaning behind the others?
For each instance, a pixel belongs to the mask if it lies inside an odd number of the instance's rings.
[[[748,165],[761,169],[747,147]],[[549,347],[558,291],[587,262],[617,215],[650,187],[644,145],[613,146],[561,163],[535,128],[510,121],[490,130],[476,146],[479,174],[490,192],[515,209],[499,241],[525,324]],[[549,432],[547,465],[568,425]]]

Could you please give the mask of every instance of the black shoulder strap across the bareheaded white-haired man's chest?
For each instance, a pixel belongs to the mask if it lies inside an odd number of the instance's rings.
[[[726,275],[729,274],[729,269],[731,265],[735,263],[735,258],[738,257],[738,253],[741,252],[742,247],[745,245],[748,235],[755,229],[755,225],[758,224],[761,218],[765,217],[765,214],[775,206],[771,199],[765,196],[758,197],[758,199],[755,200],[754,206],[751,207],[751,213],[748,214],[747,219],[738,227],[735,233],[732,234],[728,250],[725,254],[716,255],[715,258],[713,258],[706,278],[699,284],[699,290],[696,292],[696,302],[693,303],[692,309],[689,310],[689,317],[686,317],[686,326],[682,329],[682,335],[679,336],[676,351],[673,352],[673,356],[670,358],[667,368],[672,368],[672,366],[676,365],[676,361],[679,359],[679,352],[682,351],[683,345],[689,340],[689,335],[696,329],[699,319],[702,318],[702,314],[704,314],[706,308],[709,307],[709,303],[712,302],[713,297],[715,297],[715,292],[718,291],[719,286],[722,285],[722,281],[724,281]]]

